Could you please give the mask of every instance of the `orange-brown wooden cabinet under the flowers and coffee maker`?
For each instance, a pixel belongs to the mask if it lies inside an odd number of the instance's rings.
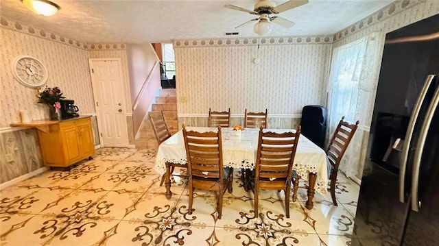
[[[95,154],[90,117],[58,121],[38,130],[44,164],[49,167],[69,167]]]

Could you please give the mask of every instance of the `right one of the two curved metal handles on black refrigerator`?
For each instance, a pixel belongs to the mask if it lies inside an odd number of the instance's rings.
[[[418,144],[416,145],[416,151],[414,152],[414,164],[412,173],[412,210],[418,212],[420,208],[420,202],[418,197],[418,184],[419,184],[419,169],[420,169],[420,159],[423,156],[423,150],[425,145],[425,139],[427,138],[427,133],[431,125],[431,120],[433,119],[434,112],[438,108],[439,104],[439,86],[436,88],[433,100],[428,107],[423,126],[420,130],[420,135],[418,138]]]

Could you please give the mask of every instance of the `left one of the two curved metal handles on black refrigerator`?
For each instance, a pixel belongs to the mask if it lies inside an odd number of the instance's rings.
[[[424,86],[422,90],[420,90],[418,99],[416,100],[416,104],[413,108],[412,116],[410,117],[409,125],[407,127],[407,132],[405,133],[405,140],[403,145],[403,151],[401,153],[401,164],[399,166],[399,201],[405,203],[404,199],[404,191],[405,191],[405,169],[407,167],[407,158],[410,151],[410,144],[412,142],[412,135],[414,132],[414,126],[416,121],[418,120],[420,106],[423,105],[423,101],[425,100],[425,95],[427,95],[427,91],[430,88],[431,82],[433,81],[436,75],[428,75],[427,79],[425,79]]]

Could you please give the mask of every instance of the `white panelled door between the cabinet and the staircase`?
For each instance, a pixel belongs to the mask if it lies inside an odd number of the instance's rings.
[[[99,138],[104,147],[127,147],[125,92],[121,79],[119,58],[89,59],[93,95],[99,127]]]

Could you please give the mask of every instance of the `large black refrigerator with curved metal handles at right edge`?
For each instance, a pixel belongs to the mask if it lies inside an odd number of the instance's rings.
[[[385,37],[351,245],[439,245],[439,14]]]

